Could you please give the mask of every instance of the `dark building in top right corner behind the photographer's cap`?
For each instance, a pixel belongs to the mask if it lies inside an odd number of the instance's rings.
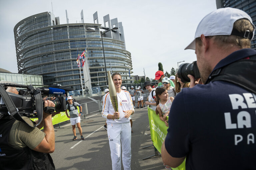
[[[252,18],[256,25],[256,1],[255,0],[216,0],[217,9],[219,8],[237,8],[246,12]],[[256,36],[251,41],[251,48],[256,49]]]

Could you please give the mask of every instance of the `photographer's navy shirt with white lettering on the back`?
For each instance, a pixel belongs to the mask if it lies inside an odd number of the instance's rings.
[[[252,55],[253,49],[235,51],[214,70]],[[256,168],[256,95],[240,86],[214,81],[183,88],[167,131],[166,150],[186,156],[186,170]]]

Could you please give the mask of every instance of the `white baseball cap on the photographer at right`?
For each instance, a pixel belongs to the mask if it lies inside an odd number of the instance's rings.
[[[206,15],[198,24],[195,34],[195,39],[198,37],[201,37],[203,34],[206,36],[230,36],[230,35],[236,35],[244,38],[248,38],[250,40],[254,37],[255,32],[255,26],[254,31],[251,32],[244,32],[240,33],[239,35],[236,34],[233,31],[233,25],[234,23],[239,19],[248,19],[251,24],[252,19],[251,17],[244,11],[236,8],[220,8],[217,9],[210,14]],[[233,32],[232,32],[233,31]],[[196,49],[196,40],[193,40],[185,49]]]

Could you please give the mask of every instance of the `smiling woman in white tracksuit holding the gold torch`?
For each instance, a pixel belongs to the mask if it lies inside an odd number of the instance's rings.
[[[131,124],[130,115],[134,113],[132,97],[128,91],[121,90],[122,77],[120,73],[112,74],[118,99],[118,112],[114,111],[109,93],[103,100],[102,116],[107,119],[108,139],[111,151],[112,169],[121,170],[121,142],[122,162],[124,170],[131,169]]]

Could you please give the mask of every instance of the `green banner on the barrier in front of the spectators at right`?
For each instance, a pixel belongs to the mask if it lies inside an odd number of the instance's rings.
[[[148,107],[148,119],[150,126],[151,140],[155,148],[161,153],[161,147],[164,139],[167,135],[167,128],[165,123],[160,120],[159,115],[156,114],[154,110]],[[185,168],[186,159],[177,168],[172,168],[173,170],[186,170]]]

